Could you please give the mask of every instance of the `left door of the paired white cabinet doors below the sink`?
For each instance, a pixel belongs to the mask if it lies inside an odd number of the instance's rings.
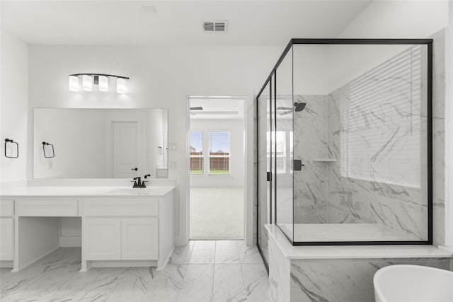
[[[121,260],[121,219],[84,219],[86,260]]]

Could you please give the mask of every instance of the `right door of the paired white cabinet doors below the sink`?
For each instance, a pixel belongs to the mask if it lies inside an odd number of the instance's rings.
[[[159,220],[121,219],[122,260],[157,260],[159,257]]]

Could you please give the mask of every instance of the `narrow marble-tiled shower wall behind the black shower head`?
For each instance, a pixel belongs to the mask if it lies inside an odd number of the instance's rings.
[[[294,112],[294,159],[305,165],[294,171],[294,223],[327,222],[327,164],[312,161],[327,157],[326,95],[294,95],[306,103]]]

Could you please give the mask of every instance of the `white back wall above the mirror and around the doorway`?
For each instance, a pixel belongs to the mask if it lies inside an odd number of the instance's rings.
[[[168,108],[168,142],[178,182],[177,243],[187,238],[187,96],[246,96],[246,187],[253,182],[253,95],[268,76],[283,47],[103,47],[30,46],[30,112],[33,108]],[[68,75],[98,72],[129,76],[126,94],[71,92]],[[31,128],[31,127],[30,127]],[[31,132],[31,129],[29,131]],[[31,164],[28,165],[31,174]],[[251,230],[253,190],[246,213]],[[248,236],[252,236],[251,232]]]

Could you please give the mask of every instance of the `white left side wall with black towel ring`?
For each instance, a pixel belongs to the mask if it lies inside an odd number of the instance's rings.
[[[0,180],[27,178],[28,45],[1,30]],[[5,139],[19,144],[19,158],[4,156]]]

